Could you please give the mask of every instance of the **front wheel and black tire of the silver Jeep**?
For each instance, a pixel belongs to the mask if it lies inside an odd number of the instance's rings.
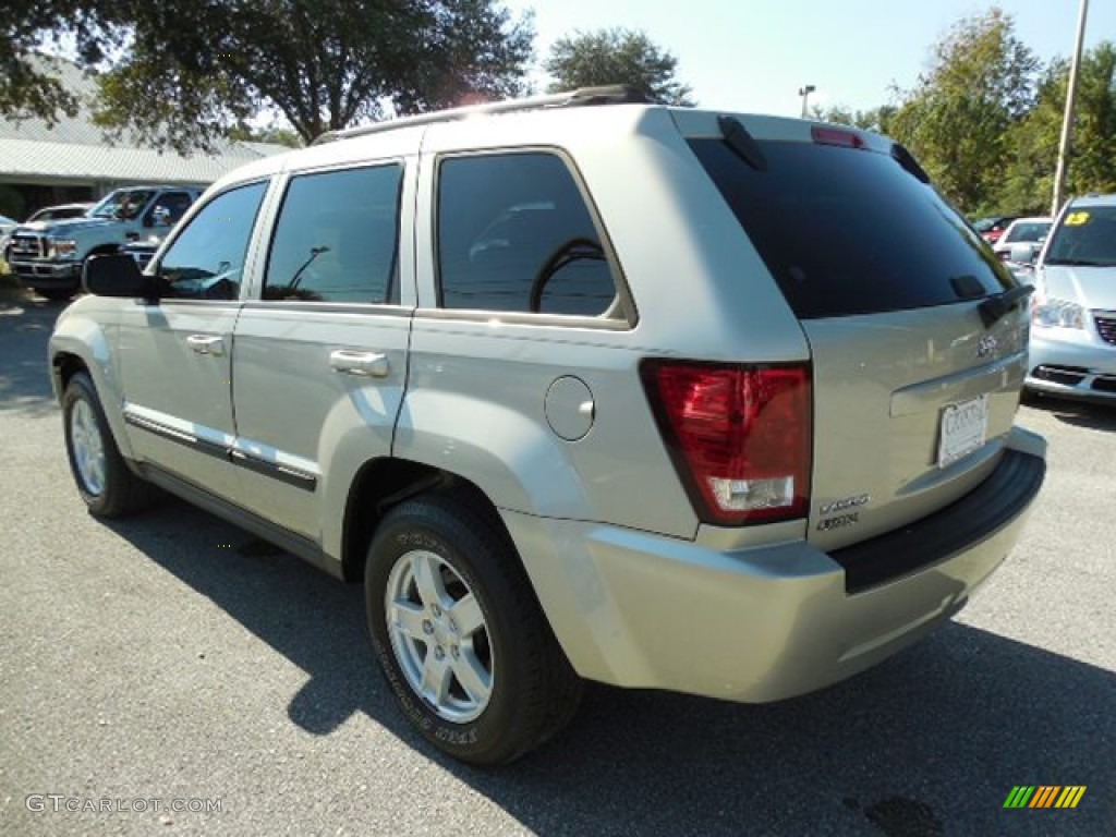
[[[136,477],[121,456],[88,374],[69,379],[62,395],[62,426],[70,472],[86,508],[97,517],[114,518],[150,506],[155,488]],[[85,453],[99,446],[100,465]]]

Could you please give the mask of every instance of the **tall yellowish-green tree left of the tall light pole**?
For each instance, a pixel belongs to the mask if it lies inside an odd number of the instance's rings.
[[[993,7],[959,21],[889,121],[937,187],[966,212],[989,208],[1011,158],[1010,128],[1035,102],[1039,61]]]

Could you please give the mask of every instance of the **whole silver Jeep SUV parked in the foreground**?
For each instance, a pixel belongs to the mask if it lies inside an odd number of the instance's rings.
[[[759,702],[878,663],[1045,473],[1030,289],[904,148],[636,98],[252,163],[143,273],[90,261],[50,340],[89,510],[160,487],[363,579],[404,712],[473,763],[584,680]]]

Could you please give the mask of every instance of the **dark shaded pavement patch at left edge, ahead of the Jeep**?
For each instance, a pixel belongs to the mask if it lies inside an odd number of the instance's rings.
[[[47,339],[65,307],[17,288],[0,288],[0,411],[41,413],[55,407]]]

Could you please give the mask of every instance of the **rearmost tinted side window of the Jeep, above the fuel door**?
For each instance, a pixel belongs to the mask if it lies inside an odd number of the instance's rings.
[[[623,316],[600,234],[558,155],[443,160],[437,199],[443,307]]]

